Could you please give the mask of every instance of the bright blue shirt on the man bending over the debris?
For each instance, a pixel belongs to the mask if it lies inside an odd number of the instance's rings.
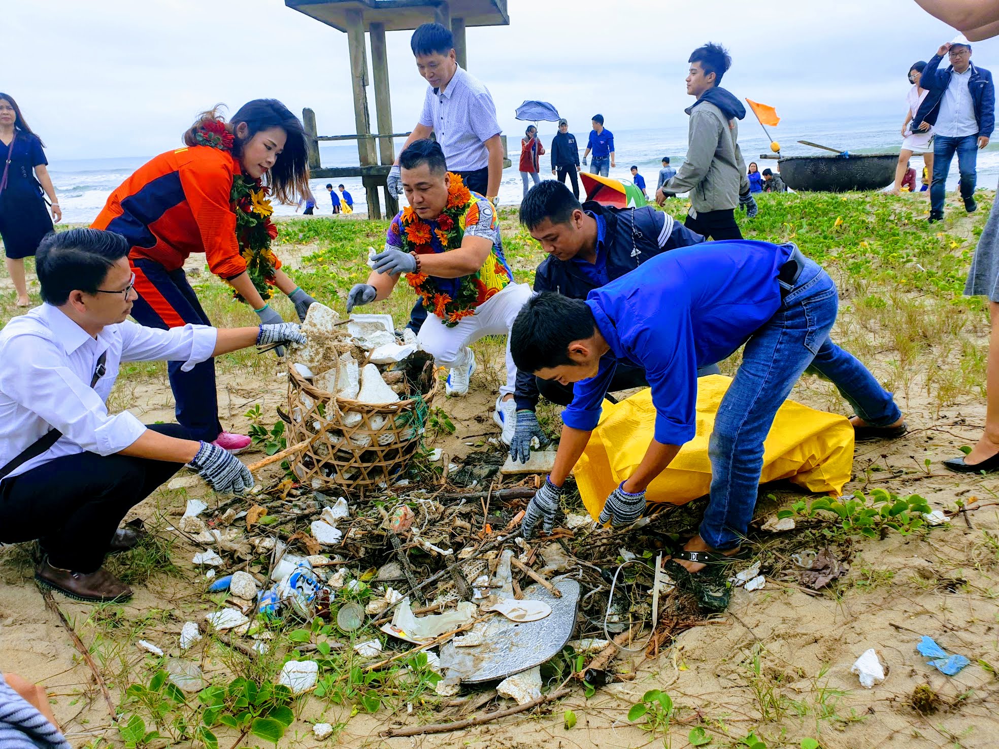
[[[683,444],[695,433],[697,368],[721,362],[780,307],[777,275],[791,245],[706,242],[651,258],[586,297],[610,351],[595,376],[573,386],[566,426],[588,431],[617,363],[645,370],[655,406],[655,441]]]

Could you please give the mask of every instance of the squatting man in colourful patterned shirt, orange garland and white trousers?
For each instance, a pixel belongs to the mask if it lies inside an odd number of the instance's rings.
[[[464,395],[476,371],[469,345],[484,336],[507,335],[530,288],[513,283],[493,205],[448,171],[438,143],[414,141],[399,163],[410,205],[393,219],[368,282],[351,289],[347,311],[386,299],[405,273],[430,313],[418,338],[439,365],[451,369],[448,394]],[[494,413],[507,444],[516,417],[515,384],[507,341],[506,382]]]

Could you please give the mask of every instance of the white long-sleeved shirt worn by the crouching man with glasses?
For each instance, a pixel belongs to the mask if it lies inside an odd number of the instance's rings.
[[[217,331],[188,325],[161,331],[131,321],[92,338],[59,308],[42,305],[0,332],[0,467],[56,428],[62,436],[10,476],[77,452],[110,455],[146,430],[127,410],[111,415],[106,401],[122,362],[184,362],[185,372],[215,351]],[[91,387],[101,354],[105,373]]]

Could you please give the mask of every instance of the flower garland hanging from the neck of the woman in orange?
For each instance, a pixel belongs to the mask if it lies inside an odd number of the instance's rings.
[[[195,131],[195,142],[199,146],[231,152],[234,139],[233,134],[226,130],[225,123],[206,120]],[[267,199],[268,192],[260,180],[242,174],[233,175],[230,199],[236,214],[236,241],[240,255],[247,262],[247,274],[265,302],[273,296],[271,287],[275,282],[278,262],[271,250],[271,242],[278,237],[278,228],[271,221],[274,208]],[[246,301],[238,292],[233,292],[233,296],[241,302]]]

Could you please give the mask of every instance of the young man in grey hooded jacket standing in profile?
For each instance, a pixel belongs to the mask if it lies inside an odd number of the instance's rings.
[[[746,166],[738,144],[738,123],[745,107],[728,91],[718,87],[732,64],[724,47],[708,43],[690,55],[687,93],[695,101],[685,110],[690,116],[687,155],[676,176],[656,191],[661,206],[666,194],[690,194],[690,211],[683,225],[712,240],[740,240],[735,208],[756,215],[756,202],[749,194]]]

